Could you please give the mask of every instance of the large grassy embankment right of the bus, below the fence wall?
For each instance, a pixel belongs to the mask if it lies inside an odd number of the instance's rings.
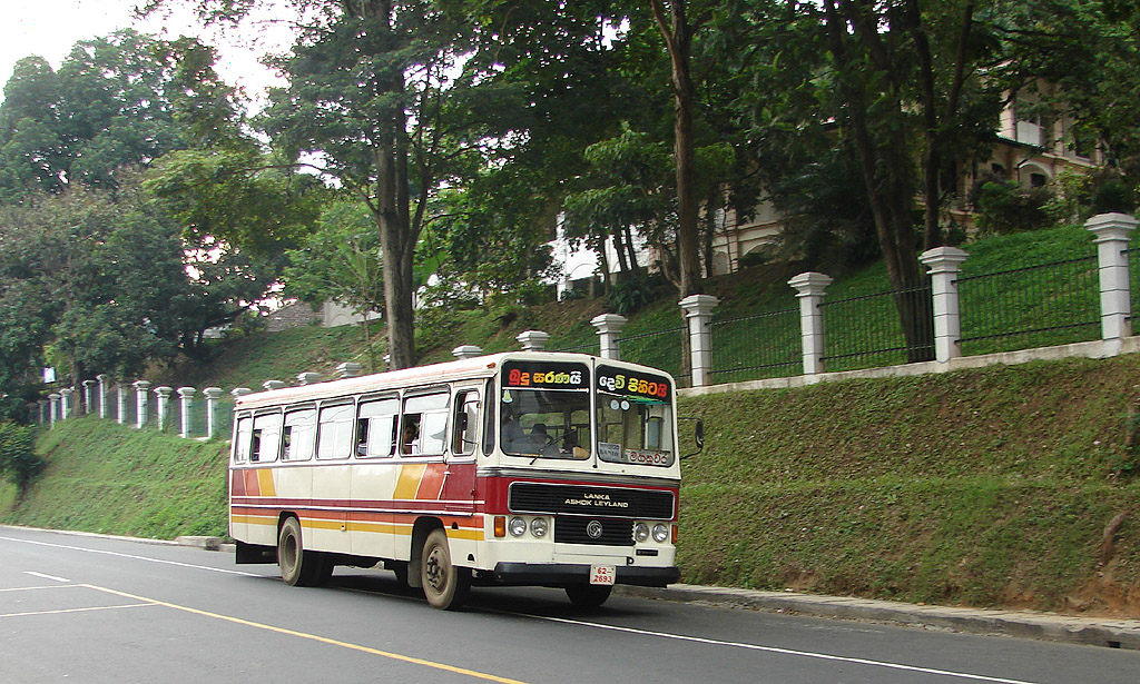
[[[1140,616],[1138,396],[1129,355],[687,399],[685,580]]]

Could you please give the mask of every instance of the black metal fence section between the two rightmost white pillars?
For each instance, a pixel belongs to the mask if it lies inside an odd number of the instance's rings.
[[[963,270],[964,271],[964,270]],[[958,279],[962,354],[1098,339],[1097,255]]]

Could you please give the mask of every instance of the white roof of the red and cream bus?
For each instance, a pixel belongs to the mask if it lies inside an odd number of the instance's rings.
[[[562,352],[504,352],[500,354],[475,356],[474,359],[461,359],[458,361],[433,363],[430,365],[417,365],[398,371],[373,373],[357,378],[344,378],[341,380],[328,380],[312,385],[255,392],[237,397],[235,410],[301,404],[348,395],[398,389],[402,387],[430,386],[437,382],[442,384],[455,380],[490,378],[495,374],[496,370],[503,364],[504,361],[511,360],[579,361],[588,363],[592,359],[596,359],[604,363],[652,370],[654,373],[668,376],[665,371],[649,369],[649,366],[601,359],[598,356],[591,356],[589,354],[571,354]],[[669,377],[669,380],[671,381],[673,378]]]

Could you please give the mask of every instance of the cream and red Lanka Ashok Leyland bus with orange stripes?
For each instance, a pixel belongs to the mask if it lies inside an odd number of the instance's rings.
[[[666,586],[676,386],[648,366],[516,352],[247,394],[229,534],[290,585],[378,567],[439,609],[475,586],[548,586],[595,608]]]

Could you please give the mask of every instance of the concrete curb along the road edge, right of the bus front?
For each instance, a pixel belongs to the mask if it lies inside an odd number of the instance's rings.
[[[968,634],[996,634],[1109,649],[1140,650],[1140,620],[915,605],[871,599],[819,596],[795,592],[762,592],[691,584],[675,584],[667,588],[621,586],[618,593],[662,601],[710,603],[726,608],[887,623],[907,627],[929,627]]]

